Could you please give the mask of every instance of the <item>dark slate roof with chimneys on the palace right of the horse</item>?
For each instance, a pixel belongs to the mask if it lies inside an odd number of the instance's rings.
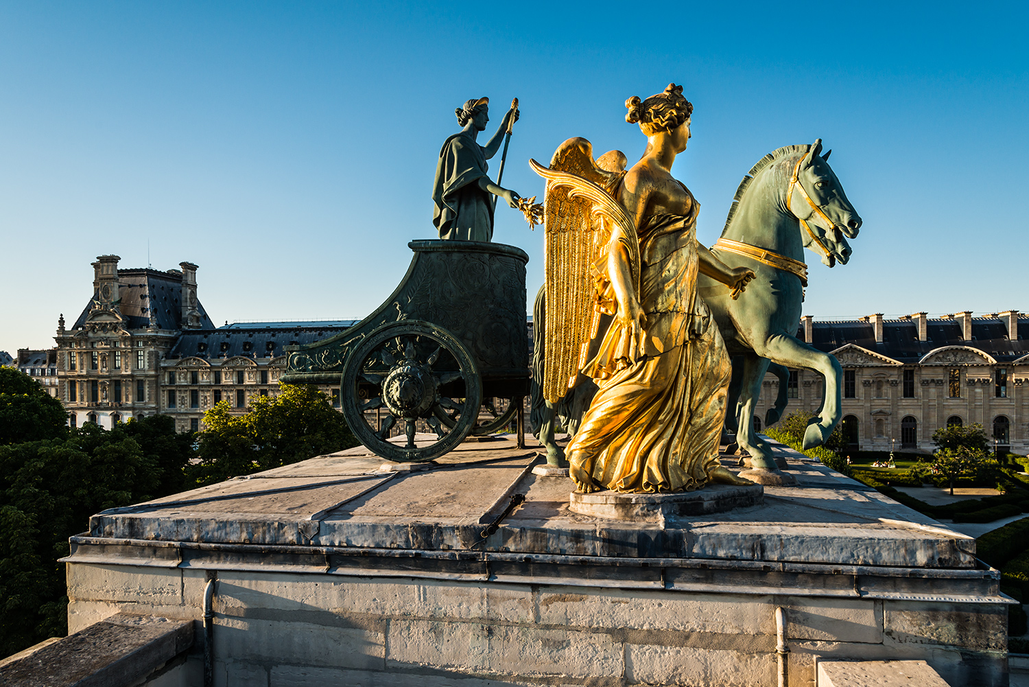
[[[918,363],[931,350],[943,346],[969,346],[989,353],[998,363],[1010,363],[1029,354],[1029,318],[1020,318],[1018,339],[1007,338],[1007,328],[999,317],[972,317],[971,341],[961,338],[961,322],[956,319],[929,318],[928,341],[918,340],[918,324],[912,320],[883,321],[883,341],[876,343],[872,322],[860,320],[818,321],[813,327],[812,345],[826,353],[845,344],[855,344],[900,363]],[[804,325],[797,330],[804,341]]]

